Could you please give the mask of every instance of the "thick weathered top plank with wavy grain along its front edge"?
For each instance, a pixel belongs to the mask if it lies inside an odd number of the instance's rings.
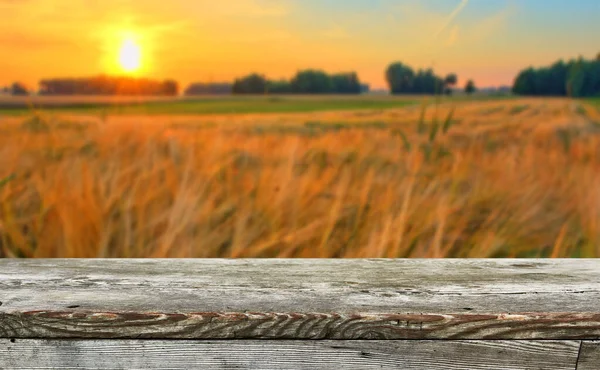
[[[2,260],[0,337],[597,339],[600,260]]]

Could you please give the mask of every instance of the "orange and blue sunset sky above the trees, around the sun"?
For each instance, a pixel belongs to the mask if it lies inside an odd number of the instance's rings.
[[[150,78],[229,81],[250,72],[454,72],[510,85],[519,70],[600,52],[599,0],[0,0],[0,85],[122,74],[135,40]]]

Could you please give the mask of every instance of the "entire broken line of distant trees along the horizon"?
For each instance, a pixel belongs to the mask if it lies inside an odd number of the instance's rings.
[[[457,89],[455,73],[446,76],[433,69],[418,69],[402,63],[391,63],[385,70],[390,92],[397,94],[451,94]],[[21,83],[3,89],[13,95],[30,92]],[[218,94],[361,94],[369,91],[356,72],[329,74],[323,70],[305,69],[290,79],[271,80],[251,73],[233,82],[192,83],[185,95]],[[467,94],[477,91],[473,80],[464,86]],[[512,92],[517,95],[587,97],[600,95],[600,54],[596,59],[559,60],[546,67],[529,67],[514,79]],[[44,79],[39,83],[41,95],[164,95],[179,94],[175,80],[157,81],[146,78],[97,76],[90,78]]]

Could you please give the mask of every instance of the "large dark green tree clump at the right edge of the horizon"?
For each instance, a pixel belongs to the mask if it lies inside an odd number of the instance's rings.
[[[558,60],[546,67],[529,67],[517,75],[513,93],[537,96],[588,97],[600,95],[600,54],[568,62]]]

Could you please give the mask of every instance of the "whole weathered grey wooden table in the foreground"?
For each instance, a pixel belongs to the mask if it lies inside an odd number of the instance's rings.
[[[600,261],[0,260],[0,369],[600,369]]]

